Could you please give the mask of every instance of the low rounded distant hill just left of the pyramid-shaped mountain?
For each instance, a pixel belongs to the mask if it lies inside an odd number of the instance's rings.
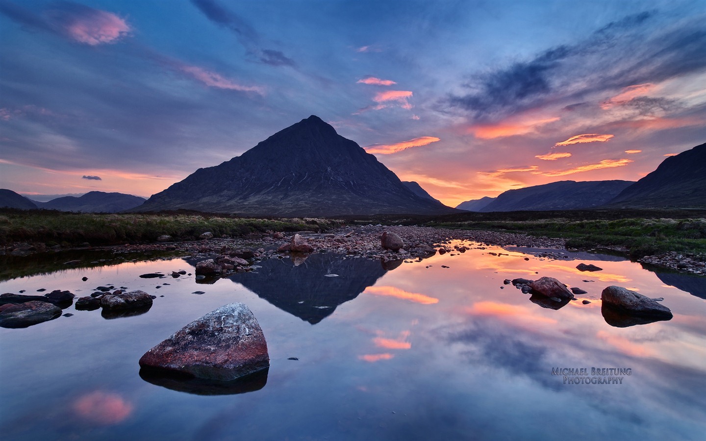
[[[138,207],[144,202],[145,198],[140,198],[139,196],[90,191],[78,198],[76,196],[64,196],[63,198],[52,199],[49,202],[37,202],[37,205],[47,210],[115,213]]]

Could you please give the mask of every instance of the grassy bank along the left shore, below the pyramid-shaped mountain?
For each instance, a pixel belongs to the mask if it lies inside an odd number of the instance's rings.
[[[188,212],[164,214],[95,214],[52,210],[0,210],[0,244],[44,243],[47,246],[92,246],[153,242],[167,234],[195,240],[210,231],[215,237],[243,237],[265,231],[324,231],[340,225],[328,219],[248,219]]]

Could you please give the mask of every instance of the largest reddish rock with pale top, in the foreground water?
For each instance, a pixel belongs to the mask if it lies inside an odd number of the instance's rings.
[[[268,368],[265,336],[243,303],[221,306],[189,323],[140,358],[140,367],[234,380]]]

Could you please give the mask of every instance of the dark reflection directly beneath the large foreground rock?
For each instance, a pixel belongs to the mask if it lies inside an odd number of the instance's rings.
[[[198,378],[183,373],[150,368],[140,369],[140,378],[152,385],[195,395],[234,395],[260,390],[267,384],[269,368],[230,381]]]

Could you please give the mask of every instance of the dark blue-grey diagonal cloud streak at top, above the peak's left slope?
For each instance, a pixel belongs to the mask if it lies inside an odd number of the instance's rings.
[[[215,0],[191,0],[191,3],[213,23],[233,32],[247,54],[259,63],[297,67],[297,63],[281,51],[263,48],[258,32],[236,13],[223,8]]]

